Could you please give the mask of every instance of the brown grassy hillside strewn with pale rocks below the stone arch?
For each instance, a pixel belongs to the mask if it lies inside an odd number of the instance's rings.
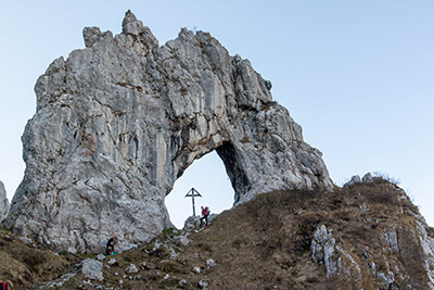
[[[406,193],[381,178],[333,192],[275,191],[206,229],[166,229],[103,259],[103,280],[78,270],[51,289],[429,289],[432,238]],[[85,259],[37,250],[7,231],[0,239],[8,261],[0,273],[13,289],[35,289]]]

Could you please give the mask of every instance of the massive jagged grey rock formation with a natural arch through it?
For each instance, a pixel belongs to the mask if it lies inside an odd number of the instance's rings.
[[[209,34],[181,29],[158,47],[131,12],[113,37],[84,29],[85,49],[38,79],[23,135],[25,177],[5,225],[59,250],[148,241],[170,225],[165,196],[216,150],[234,202],[275,189],[331,188],[321,153],[271,99],[247,60]]]

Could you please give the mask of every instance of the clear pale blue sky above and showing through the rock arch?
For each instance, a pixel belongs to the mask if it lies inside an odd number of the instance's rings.
[[[196,28],[251,60],[305,140],[322,151],[337,185],[387,173],[434,225],[434,2],[418,0],[0,0],[0,180],[10,198],[23,177],[20,138],[35,113],[36,79],[58,56],[84,48],[85,26],[118,34],[128,9],[161,45],[181,27]],[[232,204],[224,165],[212,153],[169,194],[178,226],[191,212],[183,199],[191,187],[204,196],[197,205],[218,212]]]

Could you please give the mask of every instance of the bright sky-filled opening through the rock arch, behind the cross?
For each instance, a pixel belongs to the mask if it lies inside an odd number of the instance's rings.
[[[212,214],[232,207],[234,190],[217,150],[195,160],[166,196],[167,212],[177,228],[182,228],[184,220],[193,214],[192,199],[184,198],[192,187],[202,194],[194,199],[196,215],[201,214],[201,205],[209,206]]]

